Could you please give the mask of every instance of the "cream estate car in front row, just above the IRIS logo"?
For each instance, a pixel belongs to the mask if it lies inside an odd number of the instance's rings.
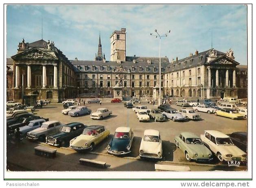
[[[221,162],[231,160],[245,162],[247,160],[247,154],[236,147],[230,137],[222,132],[206,130],[200,137],[204,145],[206,145]]]

